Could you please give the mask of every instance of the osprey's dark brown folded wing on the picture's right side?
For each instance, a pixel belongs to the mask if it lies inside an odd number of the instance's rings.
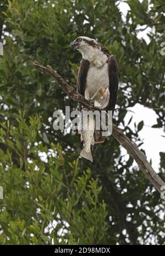
[[[117,93],[118,93],[118,83],[119,83],[119,71],[118,64],[113,55],[108,56],[108,72],[109,72],[109,104],[106,110],[112,110],[114,112],[114,107],[116,105]]]

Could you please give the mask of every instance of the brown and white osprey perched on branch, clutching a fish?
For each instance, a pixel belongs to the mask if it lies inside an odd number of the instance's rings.
[[[117,61],[109,51],[95,39],[79,36],[70,46],[80,51],[83,59],[80,62],[77,77],[77,91],[90,100],[99,88],[109,88],[110,97],[106,111],[114,112],[118,92]],[[82,106],[79,105],[80,111]],[[102,130],[95,130],[95,144],[105,141]]]

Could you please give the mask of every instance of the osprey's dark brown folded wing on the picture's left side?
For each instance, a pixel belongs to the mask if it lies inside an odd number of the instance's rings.
[[[81,95],[85,95],[85,86],[86,86],[86,76],[89,69],[90,62],[88,60],[81,60],[78,70],[78,78],[77,78],[77,92]],[[81,111],[81,105],[79,104],[79,108]]]

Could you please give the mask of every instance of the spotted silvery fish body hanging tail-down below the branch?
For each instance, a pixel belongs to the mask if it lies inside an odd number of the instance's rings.
[[[91,144],[94,144],[94,130],[95,130],[95,119],[94,116],[88,111],[87,109],[83,108],[81,112],[81,119],[79,122],[79,133],[81,134],[81,141],[84,142],[83,150],[81,150],[80,156],[93,161],[92,153],[91,153]]]

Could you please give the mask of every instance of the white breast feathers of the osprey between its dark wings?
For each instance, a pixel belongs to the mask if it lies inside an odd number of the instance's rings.
[[[90,64],[87,72],[87,81],[85,96],[92,97],[98,90],[98,88],[109,87],[109,75],[108,75],[108,63],[106,62],[102,67],[96,67]]]

